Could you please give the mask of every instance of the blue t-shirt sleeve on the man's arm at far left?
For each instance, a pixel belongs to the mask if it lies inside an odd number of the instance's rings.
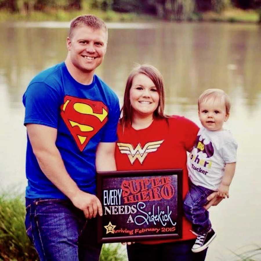
[[[43,82],[30,84],[23,95],[24,125],[34,123],[57,128],[60,103],[59,93],[54,88]]]

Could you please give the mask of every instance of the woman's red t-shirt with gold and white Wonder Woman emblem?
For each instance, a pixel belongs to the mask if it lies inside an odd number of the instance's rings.
[[[154,119],[148,128],[142,130],[135,130],[127,125],[123,131],[122,125],[118,124],[118,141],[115,148],[117,170],[183,169],[182,198],[184,200],[189,190],[186,152],[193,147],[198,130],[194,122],[180,116]],[[150,149],[151,145],[153,150]],[[124,146],[132,149],[133,153],[121,153]],[[157,244],[193,239],[195,236],[190,230],[191,223],[183,217],[182,238],[142,243]]]

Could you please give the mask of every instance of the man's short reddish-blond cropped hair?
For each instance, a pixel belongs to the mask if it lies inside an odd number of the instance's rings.
[[[85,14],[75,17],[70,23],[69,38],[73,36],[73,30],[79,26],[88,26],[93,29],[104,29],[106,32],[106,41],[108,41],[108,28],[104,21],[92,14]]]

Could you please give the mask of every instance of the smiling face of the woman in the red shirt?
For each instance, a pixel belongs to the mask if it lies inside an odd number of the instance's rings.
[[[153,81],[143,73],[133,77],[130,89],[130,101],[133,116],[152,116],[157,109],[160,96]]]

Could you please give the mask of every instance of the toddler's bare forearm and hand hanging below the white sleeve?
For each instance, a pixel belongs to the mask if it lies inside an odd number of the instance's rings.
[[[224,176],[222,182],[218,188],[217,195],[222,198],[229,198],[229,186],[235,174],[235,165],[236,163],[227,163],[225,166]]]

